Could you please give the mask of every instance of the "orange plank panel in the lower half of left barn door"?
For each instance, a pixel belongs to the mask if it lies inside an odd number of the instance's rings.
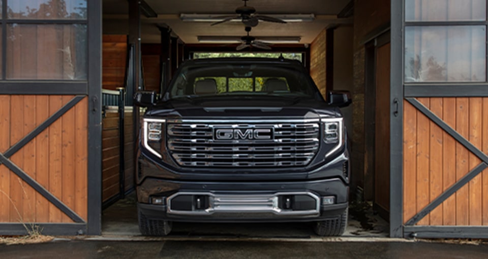
[[[73,97],[0,95],[0,152],[8,150]],[[11,157],[14,164],[85,220],[87,112],[88,101],[84,98]],[[0,165],[0,208],[0,222],[73,222],[5,165]]]

